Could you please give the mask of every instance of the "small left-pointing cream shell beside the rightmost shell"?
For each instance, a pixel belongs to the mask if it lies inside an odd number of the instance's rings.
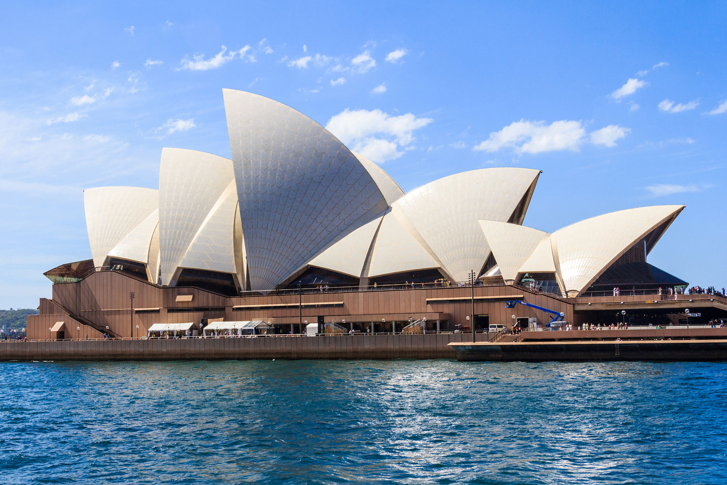
[[[524,225],[481,220],[487,244],[505,283],[513,283],[523,263],[550,234]],[[551,261],[553,257],[550,258]]]

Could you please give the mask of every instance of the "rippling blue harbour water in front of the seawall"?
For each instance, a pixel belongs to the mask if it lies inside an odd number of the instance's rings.
[[[2,484],[724,484],[726,363],[7,362]]]

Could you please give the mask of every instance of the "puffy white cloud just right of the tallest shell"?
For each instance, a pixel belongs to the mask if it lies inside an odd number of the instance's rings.
[[[345,109],[333,116],[326,129],[367,158],[383,162],[398,159],[414,148],[414,131],[434,121],[411,113],[390,116],[381,110]]]

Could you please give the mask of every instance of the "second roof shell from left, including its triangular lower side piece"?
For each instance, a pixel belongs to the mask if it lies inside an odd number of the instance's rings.
[[[232,187],[232,188],[230,188]],[[232,161],[221,156],[179,148],[164,148],[159,169],[159,255],[160,283],[174,285],[178,270],[183,268],[208,269],[212,262],[217,270],[236,273],[234,254],[219,257],[217,249],[233,247],[234,206],[224,204],[225,191],[236,190]],[[222,200],[220,200],[222,199]],[[215,232],[217,249],[201,247],[209,243],[209,235],[201,233],[217,209],[223,208],[229,216],[228,230]],[[220,215],[224,219],[224,215]],[[218,218],[218,219],[219,219]],[[213,230],[209,226],[209,231]],[[203,231],[204,232],[204,231]],[[193,243],[197,241],[193,248]],[[193,253],[188,251],[193,249]],[[224,251],[223,251],[224,252]],[[228,257],[229,256],[229,257]],[[230,264],[229,260],[232,260]],[[224,262],[223,262],[224,260]]]

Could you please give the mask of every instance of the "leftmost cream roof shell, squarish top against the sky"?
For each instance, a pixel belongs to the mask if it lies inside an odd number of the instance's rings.
[[[126,236],[145,223],[145,220],[153,219],[153,212],[157,207],[158,191],[153,188],[101,187],[89,188],[84,191],[86,227],[94,265],[103,266],[108,254],[121,241],[124,241]],[[153,227],[151,230],[153,232]],[[137,241],[136,236],[138,235],[130,236],[134,239],[132,245],[143,245],[144,241]],[[145,242],[147,252],[150,239],[151,234],[149,234],[149,241]],[[119,248],[119,252],[122,252],[121,248]],[[134,260],[146,262],[145,257],[136,259],[137,252],[137,250],[133,251]]]

